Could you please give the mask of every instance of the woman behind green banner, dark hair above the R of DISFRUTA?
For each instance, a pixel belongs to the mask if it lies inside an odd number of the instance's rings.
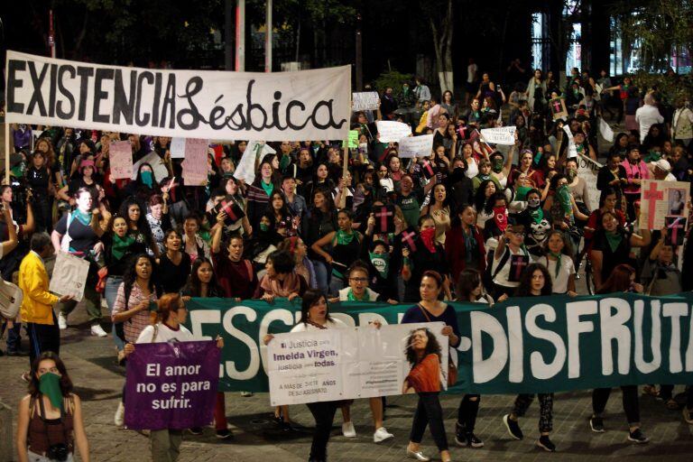
[[[619,264],[596,293],[606,294],[614,292],[642,293],[642,285],[635,282],[635,270],[628,264]],[[621,392],[624,395],[624,411],[628,420],[628,440],[633,443],[647,443],[650,441],[640,430],[640,402],[638,401],[638,385],[622,385]],[[594,413],[589,418],[589,428],[596,433],[604,433],[604,410],[609,400],[611,388],[596,388],[592,392],[592,410]]]

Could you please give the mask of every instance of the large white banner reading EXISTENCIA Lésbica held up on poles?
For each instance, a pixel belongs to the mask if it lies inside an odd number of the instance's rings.
[[[7,51],[6,121],[214,140],[346,140],[349,66],[220,72]]]

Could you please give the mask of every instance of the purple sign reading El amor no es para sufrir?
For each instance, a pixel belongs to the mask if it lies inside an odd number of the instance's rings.
[[[137,344],[127,357],[125,425],[185,430],[213,418],[219,377],[217,342]]]

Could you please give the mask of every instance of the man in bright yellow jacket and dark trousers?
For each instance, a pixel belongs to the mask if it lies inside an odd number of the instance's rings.
[[[36,233],[32,236],[31,252],[19,265],[19,288],[23,291],[22,320],[29,331],[29,361],[44,351],[60,355],[60,329],[53,313],[53,305],[71,300],[71,295],[58,297],[48,291],[48,273],[43,259],[53,253],[51,236]]]

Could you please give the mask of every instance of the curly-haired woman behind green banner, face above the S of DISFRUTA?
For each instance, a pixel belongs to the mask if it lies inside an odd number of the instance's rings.
[[[516,297],[540,297],[550,296],[552,292],[551,275],[546,266],[540,263],[531,263],[522,273],[520,285],[515,292]],[[553,393],[539,393],[539,431],[541,436],[537,440],[537,446],[548,452],[554,452],[556,445],[549,439],[553,430]],[[518,419],[524,416],[534,401],[534,394],[522,393],[515,398],[513,411],[503,416],[503,423],[513,439],[522,439],[522,430]]]

